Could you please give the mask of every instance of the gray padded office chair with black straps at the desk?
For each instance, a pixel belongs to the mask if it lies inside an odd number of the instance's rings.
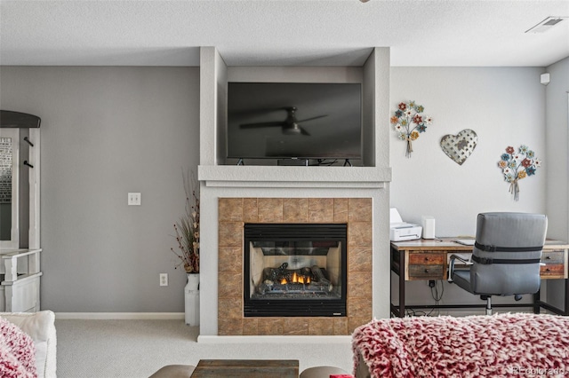
[[[482,213],[470,261],[450,258],[449,282],[486,301],[492,314],[492,295],[535,294],[540,290],[540,260],[548,218],[541,214]],[[469,269],[455,269],[455,260]]]

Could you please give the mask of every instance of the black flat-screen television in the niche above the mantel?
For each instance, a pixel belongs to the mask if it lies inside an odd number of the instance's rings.
[[[360,83],[228,83],[228,158],[361,159]]]

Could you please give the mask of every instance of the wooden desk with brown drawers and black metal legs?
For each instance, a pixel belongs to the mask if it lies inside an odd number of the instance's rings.
[[[410,280],[446,280],[450,256],[454,253],[468,255],[472,246],[465,246],[453,241],[456,238],[443,238],[434,240],[409,240],[391,242],[391,272],[399,276],[399,303],[393,304],[391,299],[391,312],[398,316],[405,316],[405,281]],[[540,312],[540,308],[547,309],[559,315],[569,315],[569,275],[568,262],[569,245],[558,240],[547,240],[541,256],[541,280],[565,280],[564,309],[559,309],[545,303],[540,299],[538,292],[533,296],[533,311]],[[528,304],[494,304],[494,307],[527,307]],[[470,308],[485,307],[485,304],[468,305],[409,305],[413,308]]]

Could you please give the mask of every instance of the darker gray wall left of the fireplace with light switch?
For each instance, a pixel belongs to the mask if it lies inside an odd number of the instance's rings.
[[[42,118],[42,308],[183,311],[170,235],[199,158],[199,68],[2,67],[0,83],[3,109]]]

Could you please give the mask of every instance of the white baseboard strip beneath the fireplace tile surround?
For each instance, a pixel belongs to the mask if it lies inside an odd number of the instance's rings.
[[[341,336],[320,336],[320,335],[292,335],[292,336],[216,336],[216,335],[198,335],[197,343],[347,343],[351,344],[350,335]]]

